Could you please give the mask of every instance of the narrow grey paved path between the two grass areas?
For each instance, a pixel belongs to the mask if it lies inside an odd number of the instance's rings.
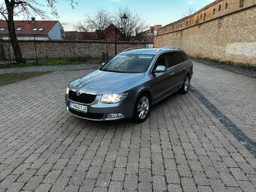
[[[98,64],[79,64],[79,65],[64,65],[64,66],[32,66],[32,67],[18,67],[11,69],[0,69],[0,74],[4,73],[24,73],[24,72],[59,72],[70,70],[89,70],[99,69]]]

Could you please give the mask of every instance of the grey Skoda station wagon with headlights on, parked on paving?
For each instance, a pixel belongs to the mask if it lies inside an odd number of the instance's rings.
[[[124,50],[66,90],[70,114],[87,120],[143,122],[151,106],[187,93],[193,64],[177,47]]]

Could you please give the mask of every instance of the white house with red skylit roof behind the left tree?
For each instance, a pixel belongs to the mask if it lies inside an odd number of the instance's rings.
[[[62,40],[65,37],[64,29],[57,20],[16,20],[14,21],[18,40]],[[0,38],[9,39],[8,25],[0,20]]]

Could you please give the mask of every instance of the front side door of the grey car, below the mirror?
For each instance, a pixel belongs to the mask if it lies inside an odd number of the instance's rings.
[[[169,68],[168,62],[168,53],[162,53],[158,56],[154,67],[151,72],[151,92],[154,102],[161,99],[166,93],[169,92],[169,72],[154,73],[154,70],[157,69],[157,66],[166,66],[166,69]]]

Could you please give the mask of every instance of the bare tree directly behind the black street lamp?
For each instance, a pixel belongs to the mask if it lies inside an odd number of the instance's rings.
[[[128,18],[127,23],[123,25],[121,17],[126,14]],[[148,24],[142,19],[141,14],[131,11],[130,8],[118,8],[114,16],[114,25],[120,28],[120,31],[124,34],[123,39],[126,41],[136,40],[137,35],[140,32],[148,29]]]

